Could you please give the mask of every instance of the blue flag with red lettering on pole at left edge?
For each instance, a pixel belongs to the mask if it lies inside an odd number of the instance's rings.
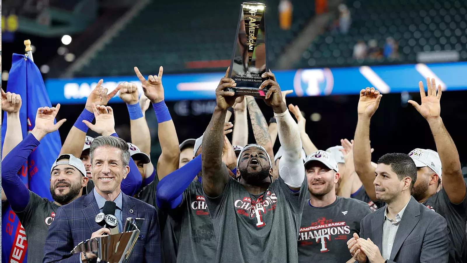
[[[42,75],[31,59],[24,55],[13,54],[13,62],[8,76],[7,92],[21,95],[20,110],[23,138],[35,125],[37,108],[52,107]],[[1,127],[2,138],[7,131],[6,113]],[[1,144],[3,148],[3,140]],[[18,176],[29,190],[41,197],[52,200],[50,195],[50,167],[60,153],[62,143],[58,131],[47,134],[41,144],[29,155]],[[21,238],[26,235],[24,228],[10,207],[3,208],[2,214],[2,263],[27,262],[27,246]]]

